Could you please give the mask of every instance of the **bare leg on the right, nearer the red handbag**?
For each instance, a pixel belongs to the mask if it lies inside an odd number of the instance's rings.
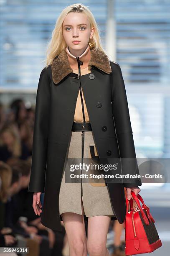
[[[106,247],[111,216],[88,218],[87,250],[90,256],[109,256]]]

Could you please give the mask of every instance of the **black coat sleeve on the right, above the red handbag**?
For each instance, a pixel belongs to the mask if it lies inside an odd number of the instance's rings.
[[[122,71],[117,62],[111,61],[112,68],[112,113],[119,155],[122,165],[122,174],[139,174],[137,159],[134,148],[133,132],[129,116],[127,95],[124,85]],[[124,187],[141,186],[141,179],[126,179]]]

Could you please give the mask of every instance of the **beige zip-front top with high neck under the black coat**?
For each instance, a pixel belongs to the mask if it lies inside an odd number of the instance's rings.
[[[78,69],[78,63],[77,63],[76,56],[74,56],[70,53],[68,46],[66,47],[66,52],[67,52],[67,56],[68,56],[68,59],[69,59],[69,64],[70,64],[71,68],[73,69],[73,72],[76,73],[76,74],[79,74],[79,69]],[[91,51],[90,51],[90,46],[88,44],[84,53],[79,56],[79,59],[81,61],[83,61],[83,65],[80,65],[81,76],[85,75],[85,74],[88,74],[88,73],[91,73],[91,71],[88,69],[88,63],[89,63],[90,58],[91,58]],[[88,115],[87,108],[86,108],[86,103],[85,103],[85,100],[84,100],[83,90],[81,90],[81,92],[82,92],[83,104],[84,104],[85,121],[90,122],[89,115]],[[77,97],[77,102],[76,102],[74,122],[84,122],[80,91],[79,91],[79,95]]]

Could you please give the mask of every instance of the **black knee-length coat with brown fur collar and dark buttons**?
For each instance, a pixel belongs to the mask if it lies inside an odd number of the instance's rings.
[[[28,191],[45,192],[41,223],[53,230],[61,230],[59,191],[80,82],[99,158],[109,161],[113,158],[136,159],[119,64],[110,61],[103,51],[97,50],[91,51],[89,69],[93,75],[86,74],[79,78],[73,73],[66,50],[63,49],[40,74]],[[122,172],[139,174],[133,161],[128,161],[128,166],[123,167]],[[123,223],[126,211],[124,187],[140,186],[141,180],[107,185],[116,215],[111,220],[117,219]]]

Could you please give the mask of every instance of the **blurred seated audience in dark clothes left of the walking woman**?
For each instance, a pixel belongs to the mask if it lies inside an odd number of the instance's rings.
[[[63,223],[61,232],[42,225],[32,207],[33,192],[27,191],[34,118],[33,108],[21,99],[8,109],[0,103],[0,247],[29,247],[30,256],[63,256]]]

